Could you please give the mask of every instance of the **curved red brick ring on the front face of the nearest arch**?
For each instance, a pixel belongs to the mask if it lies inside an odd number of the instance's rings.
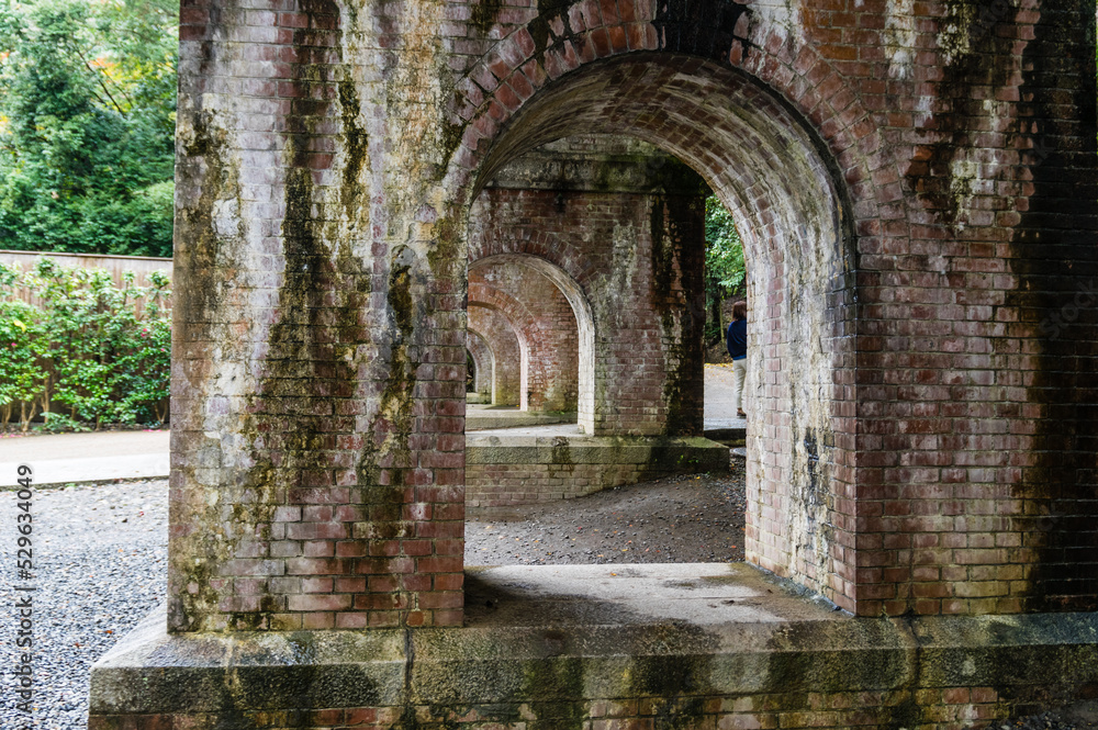
[[[619,0],[616,8],[603,8],[581,1],[513,27],[456,85],[451,114],[464,132],[451,179],[462,184],[475,178],[500,131],[554,82],[606,59],[659,54],[685,59],[687,74],[703,66],[725,69],[726,78],[749,82],[757,98],[770,97],[792,111],[827,148],[840,178],[873,191],[860,198],[858,220],[877,217],[881,195],[872,173],[882,138],[869,110],[828,58],[780,25],[768,26],[759,14],[744,13],[748,27],[735,33],[726,29],[721,40],[710,18],[686,20],[683,27],[671,29],[658,18],[658,4]],[[539,44],[535,36],[546,42]]]

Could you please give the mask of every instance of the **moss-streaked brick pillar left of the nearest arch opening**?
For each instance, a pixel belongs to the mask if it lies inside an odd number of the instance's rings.
[[[391,21],[182,8],[173,631],[461,622],[464,255]]]

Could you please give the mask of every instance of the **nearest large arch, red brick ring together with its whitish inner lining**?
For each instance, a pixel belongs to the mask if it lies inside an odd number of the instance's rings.
[[[748,381],[761,417],[749,426],[747,557],[853,607],[853,505],[840,497],[854,483],[856,234],[883,233],[878,201],[890,200],[870,175],[876,128],[810,48],[755,29],[747,59],[669,53],[647,30],[651,14],[639,18],[643,44],[598,47],[603,32],[620,37],[620,18],[593,18],[582,47],[560,36],[539,49],[528,29],[501,41],[459,85],[468,123],[449,182],[472,201],[517,155],[607,133],[707,180],[740,226],[750,342],[766,363]],[[894,240],[908,235],[906,220],[888,223]],[[775,499],[789,505],[776,517],[765,507]]]

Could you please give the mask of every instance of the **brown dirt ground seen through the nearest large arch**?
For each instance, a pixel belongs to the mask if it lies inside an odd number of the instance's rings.
[[[743,560],[743,460],[726,474],[662,479],[470,520],[467,565]]]

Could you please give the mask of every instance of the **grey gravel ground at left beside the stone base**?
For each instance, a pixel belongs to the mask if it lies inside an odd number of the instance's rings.
[[[32,502],[33,579],[14,573],[14,492],[0,492],[0,643],[14,665],[14,585],[33,585],[36,695],[31,727],[88,727],[88,671],[167,593],[166,480],[42,490]],[[23,728],[3,675],[0,727]]]

